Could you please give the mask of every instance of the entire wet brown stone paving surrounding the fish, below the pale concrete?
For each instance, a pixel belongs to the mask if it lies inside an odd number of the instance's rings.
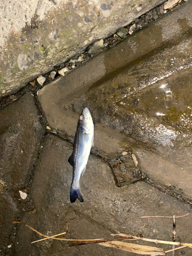
[[[38,87],[32,93],[28,88],[1,109],[0,255],[136,255],[96,244],[31,244],[41,237],[12,221],[50,236],[64,232],[67,223],[63,238],[70,239],[121,232],[172,241],[172,219],[137,217],[188,213],[177,219],[176,241],[191,243],[190,9],[188,2],[37,95]],[[158,30],[167,23],[172,30]],[[150,43],[142,49],[143,40]],[[84,203],[71,204],[68,158],[84,106],[94,120],[95,141],[80,180]],[[175,252],[183,254],[191,255],[191,248]]]

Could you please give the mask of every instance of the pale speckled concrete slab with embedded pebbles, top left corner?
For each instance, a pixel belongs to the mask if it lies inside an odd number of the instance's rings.
[[[0,97],[80,55],[95,40],[114,34],[163,2],[1,1]]]

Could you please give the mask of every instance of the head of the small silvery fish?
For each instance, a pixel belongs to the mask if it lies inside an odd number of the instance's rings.
[[[82,132],[89,133],[89,131],[93,129],[93,119],[87,106],[82,110],[78,124],[80,125]]]

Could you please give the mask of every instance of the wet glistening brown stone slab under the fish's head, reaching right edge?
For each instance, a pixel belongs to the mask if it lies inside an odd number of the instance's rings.
[[[177,41],[170,41],[170,37],[165,39],[162,32],[167,22],[178,22],[184,29],[185,21],[179,21],[182,15],[178,19],[178,14],[185,8],[173,11],[98,55],[94,59],[95,63],[100,62],[96,68],[93,68],[93,61],[89,61],[67,74],[65,79],[44,87],[38,97],[50,127],[71,141],[78,115],[87,105],[96,123],[93,148],[96,154],[109,159],[119,157],[125,150],[135,152],[139,160],[136,174],[140,172],[142,177],[143,172],[192,199],[188,182],[192,178],[190,27],[185,27],[186,34],[175,28]],[[157,29],[161,35],[157,34]],[[151,42],[145,44],[144,49],[143,38]],[[161,50],[159,53],[156,47]],[[93,69],[88,72],[87,67]],[[112,73],[120,69],[118,75]],[[100,80],[94,82],[93,76],[101,70]],[[79,79],[79,71],[87,81]],[[117,168],[114,172],[118,184],[129,183],[127,177],[131,170],[126,170],[126,178],[123,169]]]

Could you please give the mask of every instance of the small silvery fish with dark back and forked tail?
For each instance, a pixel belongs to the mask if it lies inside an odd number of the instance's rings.
[[[77,123],[77,130],[73,144],[73,152],[68,162],[73,166],[73,179],[71,183],[70,201],[74,203],[78,198],[83,203],[80,190],[80,177],[86,171],[91,148],[94,144],[94,124],[91,113],[85,107]]]

